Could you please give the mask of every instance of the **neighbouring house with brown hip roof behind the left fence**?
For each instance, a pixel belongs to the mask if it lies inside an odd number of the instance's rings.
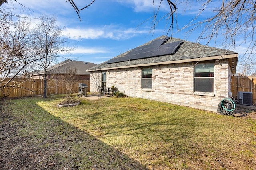
[[[47,69],[47,79],[59,79],[61,75],[67,74],[70,69],[76,69],[78,80],[90,80],[90,72],[87,72],[86,70],[93,66],[96,66],[96,64],[67,59],[49,67]],[[35,79],[43,79],[43,76],[44,71],[30,73],[30,77]]]

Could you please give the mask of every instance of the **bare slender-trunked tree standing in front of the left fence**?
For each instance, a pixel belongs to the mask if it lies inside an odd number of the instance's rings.
[[[47,97],[47,71],[52,63],[56,62],[60,53],[64,53],[70,50],[68,47],[64,47],[67,42],[66,38],[63,38],[62,28],[56,23],[56,17],[54,16],[41,16],[41,23],[37,24],[37,27],[32,29],[31,36],[33,37],[34,50],[40,51],[38,53],[39,60],[35,61],[31,66],[35,72],[38,69],[44,71],[44,98]]]

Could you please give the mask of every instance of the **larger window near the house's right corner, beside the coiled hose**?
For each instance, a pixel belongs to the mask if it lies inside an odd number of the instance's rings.
[[[214,63],[197,64],[195,66],[194,91],[214,92]]]

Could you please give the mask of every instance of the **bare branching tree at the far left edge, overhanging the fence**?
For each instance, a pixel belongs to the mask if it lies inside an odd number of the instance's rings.
[[[6,87],[19,87],[14,78],[27,72],[31,63],[38,60],[37,51],[31,49],[29,23],[15,18],[1,9],[0,15],[0,90]]]

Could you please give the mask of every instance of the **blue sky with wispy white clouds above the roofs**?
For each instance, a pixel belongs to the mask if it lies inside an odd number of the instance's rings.
[[[76,11],[66,0],[17,0],[20,4],[26,6],[30,10],[24,10],[25,14],[29,14],[33,19],[30,20],[31,25],[38,22],[43,14],[55,15],[56,24],[65,27],[64,35],[71,38],[70,46],[74,45],[76,50],[72,54],[66,54],[64,57],[72,60],[92,62],[100,64],[117,55],[120,55],[130,49],[138,47],[152,39],[161,35],[167,35],[166,28],[167,18],[163,18],[154,29],[151,30],[153,16],[153,0],[96,0],[91,6],[84,9],[80,13],[79,20]],[[3,6],[20,7],[15,2],[8,0],[8,4]],[[74,0],[78,8],[88,5],[90,0]],[[155,10],[158,8],[160,0],[154,0]],[[158,19],[167,14],[168,4],[166,0],[162,2]],[[198,20],[203,20],[212,16],[215,6],[219,6],[218,0],[213,1],[205,12],[201,14]],[[188,24],[198,14],[202,1],[191,1],[189,6],[185,6],[184,1],[178,1],[178,29]],[[186,13],[184,9],[186,8]],[[187,29],[188,30],[188,29]],[[185,39],[187,41],[196,42],[200,30],[194,31],[191,35],[186,35],[186,29],[177,31],[174,26],[173,37]],[[68,34],[70,33],[70,34]],[[170,36],[170,33],[168,34]],[[205,45],[206,42],[200,41]],[[220,43],[216,41],[215,47]],[[214,44],[210,43],[210,46]],[[243,53],[245,47],[236,47],[233,51]],[[59,62],[64,58],[59,58]]]

